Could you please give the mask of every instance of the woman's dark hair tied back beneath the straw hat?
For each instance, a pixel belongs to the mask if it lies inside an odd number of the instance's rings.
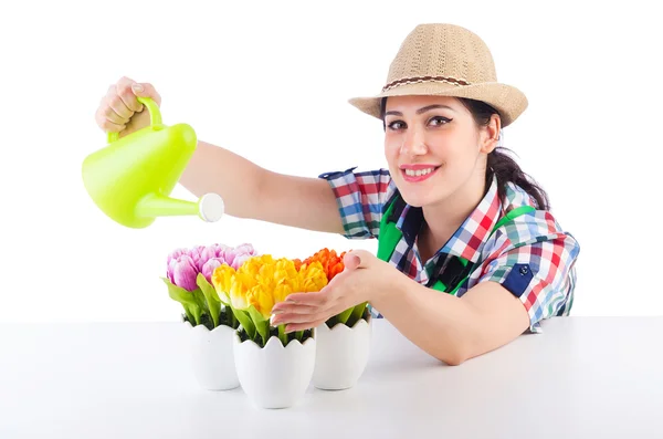
[[[459,101],[472,113],[472,116],[478,126],[487,126],[493,114],[499,113],[491,105],[475,100],[459,97]],[[385,124],[385,112],[387,107],[387,98],[381,100],[380,118]],[[536,200],[538,209],[549,210],[550,202],[546,191],[538,184],[520,169],[520,166],[503,150],[509,150],[504,147],[497,147],[488,154],[488,163],[486,165],[486,188],[493,180],[493,176],[497,178],[497,194],[501,199],[505,197],[506,185],[511,181],[523,188],[532,198]]]

